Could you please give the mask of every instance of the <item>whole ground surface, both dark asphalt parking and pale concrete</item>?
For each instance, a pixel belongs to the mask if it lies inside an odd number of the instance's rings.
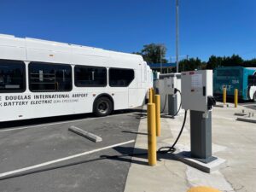
[[[213,154],[227,160],[227,166],[211,174],[169,154],[160,156],[154,167],[147,166],[146,155],[131,158],[134,149],[136,154],[147,150],[147,119],[138,118],[145,112],[140,109],[103,118],[80,114],[1,124],[0,191],[186,191],[196,185],[253,191],[255,125],[236,121],[235,113],[254,113],[256,103],[240,103],[238,108],[228,104],[213,108],[212,114]],[[158,148],[173,143],[182,121],[183,113],[161,119]],[[178,147],[189,146],[187,121]],[[102,137],[102,142],[68,131],[72,125]]]

